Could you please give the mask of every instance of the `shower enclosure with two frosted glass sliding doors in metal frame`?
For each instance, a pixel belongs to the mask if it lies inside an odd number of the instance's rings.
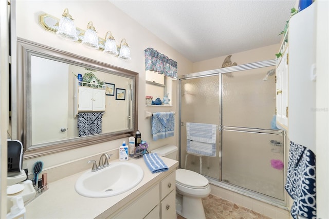
[[[180,167],[211,184],[284,203],[285,132],[276,129],[275,60],[179,79]],[[187,152],[187,124],[216,125],[215,156]]]

